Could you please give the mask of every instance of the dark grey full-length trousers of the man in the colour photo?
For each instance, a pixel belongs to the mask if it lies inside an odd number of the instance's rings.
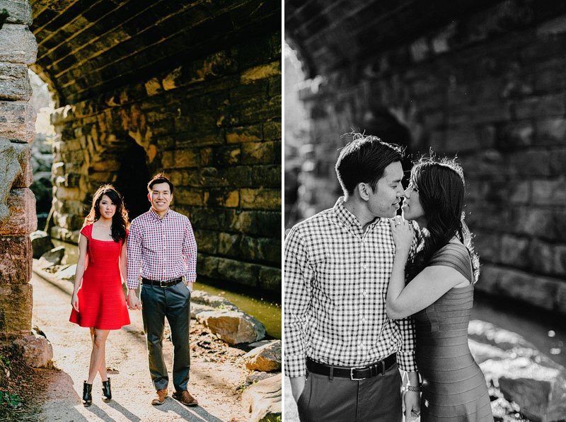
[[[176,391],[183,391],[187,389],[190,370],[190,291],[182,282],[171,287],[142,284],[140,299],[151,381],[155,389],[167,388],[169,382],[163,360],[163,329],[167,317],[173,341],[173,385]]]

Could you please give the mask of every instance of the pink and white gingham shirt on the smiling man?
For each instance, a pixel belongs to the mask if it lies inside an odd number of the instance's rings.
[[[197,279],[197,242],[187,216],[167,211],[159,218],[153,209],[134,218],[128,235],[129,289],[139,280],[167,281],[185,276]]]

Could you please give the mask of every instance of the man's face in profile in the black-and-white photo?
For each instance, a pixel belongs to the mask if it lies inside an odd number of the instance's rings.
[[[395,161],[385,168],[378,180],[376,189],[369,187],[368,209],[373,216],[392,218],[397,213],[400,197],[403,197],[403,167]]]

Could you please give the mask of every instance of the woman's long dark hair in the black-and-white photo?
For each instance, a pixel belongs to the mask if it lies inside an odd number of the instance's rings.
[[[473,282],[478,281],[480,265],[472,235],[464,222],[464,176],[455,159],[422,157],[411,170],[410,182],[417,188],[427,227],[422,229],[422,247],[407,266],[413,279],[430,262],[432,255],[456,235],[470,251]]]

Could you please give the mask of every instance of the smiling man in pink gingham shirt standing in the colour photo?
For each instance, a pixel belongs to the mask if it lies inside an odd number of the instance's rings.
[[[197,400],[187,391],[190,294],[192,283],[197,278],[197,242],[189,219],[169,209],[173,199],[171,180],[160,173],[149,181],[147,189],[151,209],[134,218],[129,226],[128,305],[131,309],[139,309],[135,289],[141,279],[141,315],[146,333],[149,373],[156,389],[151,404],[163,404],[168,396],[169,377],[162,351],[167,317],[175,348],[173,397],[187,406],[197,406]]]

